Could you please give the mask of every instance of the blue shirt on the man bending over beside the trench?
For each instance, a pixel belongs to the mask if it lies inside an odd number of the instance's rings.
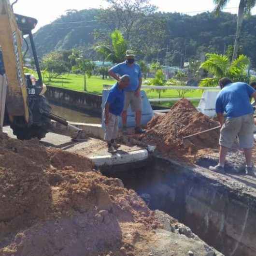
[[[253,114],[250,98],[255,89],[242,82],[226,85],[217,95],[216,113],[227,113],[227,117]]]

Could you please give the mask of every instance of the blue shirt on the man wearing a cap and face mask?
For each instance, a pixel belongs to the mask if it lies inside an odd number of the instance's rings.
[[[139,78],[142,77],[142,71],[137,63],[133,63],[133,65],[130,67],[128,66],[126,60],[125,62],[115,65],[112,69],[110,69],[110,71],[113,71],[120,76],[129,75],[130,83],[125,88],[125,91],[136,91],[139,87]]]

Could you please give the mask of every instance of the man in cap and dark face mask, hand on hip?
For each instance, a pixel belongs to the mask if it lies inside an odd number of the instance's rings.
[[[126,61],[115,65],[109,70],[109,75],[115,80],[119,81],[120,76],[128,75],[130,82],[125,88],[125,103],[122,113],[123,133],[127,133],[127,110],[131,105],[132,111],[135,112],[135,133],[144,133],[141,128],[142,118],[142,99],[141,99],[141,86],[142,86],[142,71],[140,66],[135,63],[135,55],[130,50],[126,52]]]

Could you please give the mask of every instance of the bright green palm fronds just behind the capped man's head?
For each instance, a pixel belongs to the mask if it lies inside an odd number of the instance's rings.
[[[99,45],[95,47],[95,50],[102,55],[104,60],[109,60],[113,63],[123,62],[128,49],[127,41],[124,39],[119,30],[114,30],[114,32],[111,34],[111,39],[111,46]]]

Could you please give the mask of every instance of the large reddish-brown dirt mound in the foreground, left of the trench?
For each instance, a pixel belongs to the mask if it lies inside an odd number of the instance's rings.
[[[157,225],[121,180],[38,140],[0,134],[0,184],[1,256],[125,255],[133,245],[124,242],[122,228],[139,225],[145,232]]]

